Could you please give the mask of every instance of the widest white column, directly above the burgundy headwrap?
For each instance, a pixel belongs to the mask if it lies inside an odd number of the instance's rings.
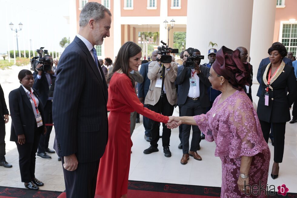
[[[225,45],[249,50],[252,10],[252,0],[188,0],[186,49],[199,49],[205,55],[202,63],[208,62],[210,41],[218,44],[217,49]]]

